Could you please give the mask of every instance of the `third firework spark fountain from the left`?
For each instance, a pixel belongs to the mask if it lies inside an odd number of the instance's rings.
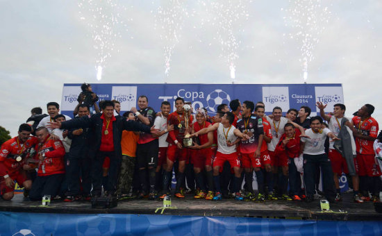
[[[240,31],[242,19],[248,19],[248,3],[251,1],[199,1],[212,16],[211,22],[216,30],[217,40],[222,46],[221,56],[225,58],[230,69],[231,78],[235,79],[235,60],[238,59],[240,40],[235,36]],[[204,20],[202,20],[204,24]]]

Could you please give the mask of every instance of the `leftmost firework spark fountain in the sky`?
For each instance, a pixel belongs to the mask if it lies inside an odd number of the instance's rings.
[[[108,58],[114,50],[117,37],[121,37],[117,31],[117,25],[124,24],[118,13],[121,7],[117,0],[92,1],[81,0],[78,3],[81,9],[80,19],[86,21],[92,33],[94,49],[97,51],[95,69],[97,80],[102,78],[102,70],[105,68]]]

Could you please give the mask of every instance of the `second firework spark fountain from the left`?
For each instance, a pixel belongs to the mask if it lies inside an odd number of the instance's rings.
[[[165,42],[165,75],[169,75],[172,53],[181,37],[184,18],[188,17],[185,3],[178,0],[170,0],[167,4],[158,7],[156,18],[156,28],[160,30],[160,39]]]

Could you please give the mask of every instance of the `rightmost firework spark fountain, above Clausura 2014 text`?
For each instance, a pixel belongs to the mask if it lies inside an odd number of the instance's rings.
[[[288,13],[288,16],[284,17],[285,26],[292,27],[289,37],[300,44],[299,61],[302,63],[303,78],[306,83],[308,63],[314,59],[314,48],[319,42],[319,35],[331,19],[331,12],[322,6],[321,0],[290,0],[289,3],[290,7],[285,9]]]

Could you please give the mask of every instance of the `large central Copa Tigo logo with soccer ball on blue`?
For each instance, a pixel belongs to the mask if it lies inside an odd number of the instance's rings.
[[[197,108],[207,108],[210,112],[216,112],[217,106],[222,103],[229,104],[231,101],[231,96],[224,90],[220,89],[213,90],[210,93],[208,93],[208,91],[201,92],[180,89],[174,96],[158,96],[158,99],[163,101],[172,101],[177,97],[181,97],[185,99],[185,101],[190,101],[194,110],[197,110]],[[175,109],[175,101],[173,101],[173,110]]]

